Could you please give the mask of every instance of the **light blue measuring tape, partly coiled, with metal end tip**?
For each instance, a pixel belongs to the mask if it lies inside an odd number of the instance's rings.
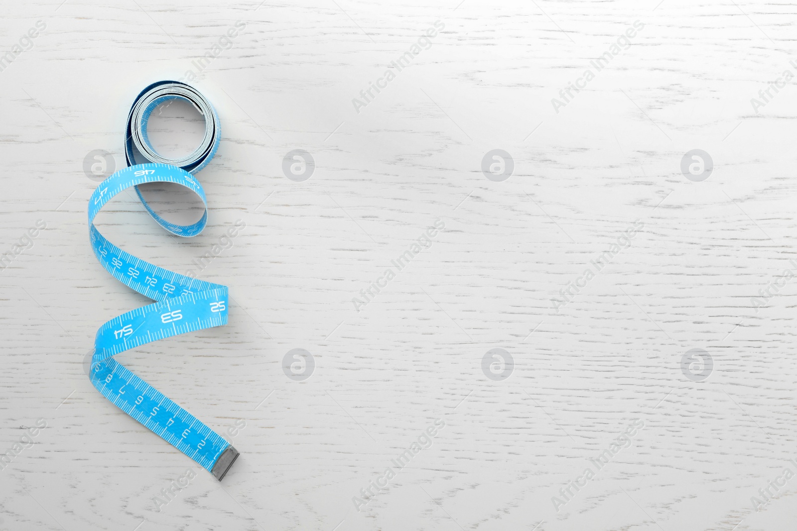
[[[147,138],[147,120],[159,104],[187,100],[205,116],[205,138],[194,153],[171,160],[155,152]],[[207,222],[207,201],[202,185],[191,174],[201,170],[218,149],[218,116],[210,103],[189,85],[159,81],[145,88],[128,115],[125,159],[129,167],[117,171],[88,200],[88,234],[92,249],[105,269],[121,283],[155,303],[142,306],[100,326],[94,340],[90,377],[108,400],[160,435],[179,451],[210,470],[219,481],[238,458],[230,443],[185,409],[125,368],[113,356],[125,350],[227,323],[227,287],[192,279],[136,258],[105,239],[94,227],[94,217],[116,194],[135,186],[139,198],[155,221],[177,236],[196,236]],[[135,150],[134,150],[135,147]],[[136,151],[151,163],[136,164]],[[196,193],[205,205],[194,225],[175,225],[153,211],[138,188],[145,182],[174,182]]]

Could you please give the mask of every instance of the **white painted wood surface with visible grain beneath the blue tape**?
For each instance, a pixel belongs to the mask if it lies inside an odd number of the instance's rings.
[[[797,256],[795,88],[750,100],[797,72],[797,6],[457,1],[6,1],[0,53],[46,29],[0,72],[0,252],[47,228],[0,271],[0,451],[47,428],[0,470],[0,529],[795,527],[797,479],[751,502],[797,470],[797,288],[778,280]],[[194,81],[222,120],[198,174],[206,231],[167,236],[132,195],[100,218],[181,272],[246,223],[200,275],[230,286],[230,324],[119,357],[211,428],[245,421],[219,483],[84,374],[96,328],[147,300],[92,255],[83,163],[101,149],[121,167],[135,94],[184,76],[236,21]],[[355,111],[435,21],[430,48]],[[634,21],[630,47],[557,113],[552,98]],[[155,119],[164,149],[190,146],[186,115]],[[305,182],[282,171],[295,149],[316,162]],[[481,172],[493,149],[514,160],[504,182]],[[703,182],[681,174],[693,149],[715,164]],[[431,248],[355,311],[435,220]],[[635,220],[628,248],[554,310]],[[295,348],[315,359],[306,381],[282,370]],[[494,348],[515,361],[505,381],[482,373]],[[681,370],[693,348],[713,357],[705,381]],[[358,512],[352,498],[435,419],[431,447]],[[552,497],[635,419],[633,445],[557,512]]]

